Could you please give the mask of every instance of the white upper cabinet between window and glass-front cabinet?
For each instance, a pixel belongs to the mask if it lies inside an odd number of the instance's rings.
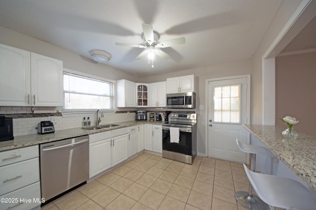
[[[136,83],[128,80],[118,80],[117,107],[136,107]]]

